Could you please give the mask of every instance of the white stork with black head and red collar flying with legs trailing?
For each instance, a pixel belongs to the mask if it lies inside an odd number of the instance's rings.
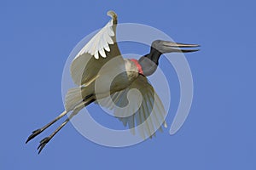
[[[38,154],[73,116],[93,102],[113,110],[119,121],[129,128],[134,129],[145,122],[145,126],[138,130],[143,138],[152,137],[155,131],[166,127],[163,116],[165,109],[147,77],[156,71],[162,54],[195,52],[199,49],[191,48],[199,45],[155,40],[151,44],[149,54],[143,55],[138,60],[124,59],[116,42],[117,14],[108,11],[108,15],[111,17],[108,24],[98,31],[73,59],[70,72],[73,82],[78,87],[67,91],[65,111],[44,127],[33,131],[26,140],[27,143],[71,112],[61,126],[40,141]],[[127,94],[133,88],[140,92],[141,102],[128,101]],[[128,107],[124,111],[122,108],[125,105]],[[149,119],[150,114],[153,116]]]

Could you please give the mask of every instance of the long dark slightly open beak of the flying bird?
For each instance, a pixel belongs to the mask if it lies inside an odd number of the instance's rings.
[[[160,41],[159,48],[162,54],[165,53],[191,53],[199,51],[199,49],[182,49],[182,48],[197,48],[198,44],[186,44],[178,42]]]

